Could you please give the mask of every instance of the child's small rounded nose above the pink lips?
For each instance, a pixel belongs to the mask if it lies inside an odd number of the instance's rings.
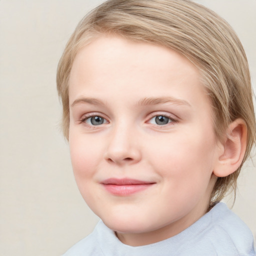
[[[141,159],[136,132],[125,125],[113,128],[108,137],[105,159],[117,165],[134,164]]]

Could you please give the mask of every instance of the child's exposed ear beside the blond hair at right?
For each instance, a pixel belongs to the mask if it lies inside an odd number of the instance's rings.
[[[240,166],[246,149],[247,126],[238,118],[228,125],[223,142],[219,142],[218,159],[213,174],[225,177]]]

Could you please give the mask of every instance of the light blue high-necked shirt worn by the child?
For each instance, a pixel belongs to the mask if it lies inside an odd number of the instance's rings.
[[[254,256],[253,236],[224,203],[217,203],[191,226],[160,242],[123,244],[102,221],[63,256]]]

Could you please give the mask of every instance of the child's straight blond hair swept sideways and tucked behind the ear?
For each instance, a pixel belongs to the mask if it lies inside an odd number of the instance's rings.
[[[216,138],[236,118],[247,125],[242,161],[256,141],[255,115],[248,63],[229,24],[210,9],[190,0],[108,0],[89,12],[68,40],[57,68],[57,89],[63,107],[63,133],[68,138],[68,79],[76,53],[95,36],[117,34],[132,41],[162,45],[186,56],[200,70],[213,107]],[[210,204],[236,188],[240,167],[219,177]]]

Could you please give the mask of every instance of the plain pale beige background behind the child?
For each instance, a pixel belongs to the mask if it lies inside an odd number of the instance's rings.
[[[0,0],[1,255],[60,255],[97,221],[76,188],[59,129],[55,70],[77,22],[99,2]],[[255,88],[256,0],[198,2],[238,33]],[[249,162],[233,207],[254,235],[255,172]]]

